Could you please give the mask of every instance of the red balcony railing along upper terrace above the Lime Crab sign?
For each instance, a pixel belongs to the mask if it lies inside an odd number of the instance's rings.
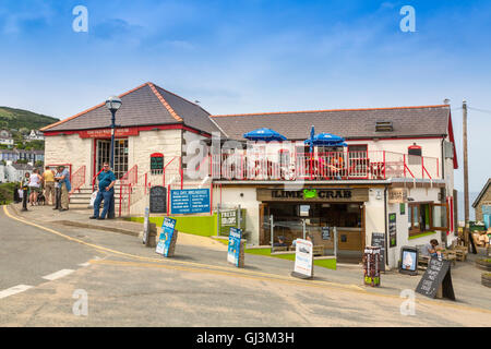
[[[232,153],[211,156],[218,180],[439,179],[439,159],[385,151]]]

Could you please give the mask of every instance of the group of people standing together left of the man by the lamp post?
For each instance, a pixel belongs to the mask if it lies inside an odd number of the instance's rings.
[[[46,166],[43,176],[39,174],[38,169],[34,169],[33,173],[25,172],[21,181],[19,197],[26,200],[31,206],[36,206],[39,204],[39,196],[44,196],[45,204],[50,205],[51,203],[55,206],[53,209],[68,210],[70,191],[69,170],[62,165],[58,166],[56,171]],[[25,198],[24,195],[26,195]]]

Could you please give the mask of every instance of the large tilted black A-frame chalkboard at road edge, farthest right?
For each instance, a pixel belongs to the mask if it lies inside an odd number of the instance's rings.
[[[435,298],[440,287],[442,287],[442,297],[455,301],[450,261],[440,261],[438,257],[432,257],[428,263],[427,272],[416,288],[416,292]]]

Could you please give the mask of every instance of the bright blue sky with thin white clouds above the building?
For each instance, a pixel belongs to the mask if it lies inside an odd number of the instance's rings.
[[[0,43],[0,106],[60,119],[145,82],[213,115],[448,98],[458,190],[466,99],[470,191],[491,176],[491,1],[2,0]]]

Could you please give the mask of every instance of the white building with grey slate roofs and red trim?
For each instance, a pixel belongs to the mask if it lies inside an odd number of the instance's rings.
[[[271,242],[271,216],[277,222],[274,237],[301,237],[304,225],[326,250],[333,241],[323,232],[337,227],[340,251],[354,258],[372,243],[372,233],[382,232],[391,267],[397,266],[404,245],[455,238],[457,158],[448,105],[211,116],[152,83],[120,98],[115,172],[122,178],[123,214],[143,215],[149,186],[208,188],[208,215],[217,204],[247,209],[251,243]],[[44,128],[46,164],[70,166],[72,186],[91,188],[109,160],[109,124],[103,103]],[[316,133],[343,136],[347,146],[315,147],[309,154],[303,141],[311,125]],[[288,142],[241,149],[243,134],[260,128]],[[236,142],[209,155],[212,133]],[[194,141],[202,144],[196,147]],[[203,160],[195,161],[195,154]],[[151,168],[159,156],[165,170]],[[333,167],[339,157],[342,165]],[[207,177],[192,178],[190,170],[197,168]]]

